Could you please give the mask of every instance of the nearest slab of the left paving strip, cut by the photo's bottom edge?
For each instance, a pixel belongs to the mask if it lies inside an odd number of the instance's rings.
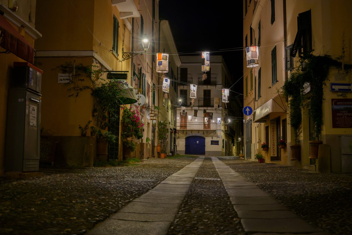
[[[88,234],[92,235],[146,235],[166,234],[171,222],[145,222],[122,219],[107,219],[96,225]]]

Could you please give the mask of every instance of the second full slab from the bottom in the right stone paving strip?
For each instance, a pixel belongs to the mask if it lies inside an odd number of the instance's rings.
[[[252,219],[300,218],[294,212],[289,211],[289,210],[278,210],[278,211],[238,210],[237,215],[240,218],[252,218]]]

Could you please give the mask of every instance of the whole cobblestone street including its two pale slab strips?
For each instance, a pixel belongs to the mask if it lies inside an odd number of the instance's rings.
[[[286,228],[302,229],[305,221],[306,231],[301,232],[305,234],[352,233],[350,175],[315,173],[237,157],[196,159],[50,168],[42,169],[42,177],[1,179],[0,234],[108,234],[104,226],[109,223],[112,231],[127,226],[124,234],[270,232],[271,228],[253,227],[254,218],[261,224],[290,221]],[[263,201],[256,203],[256,199]],[[143,209],[148,203],[153,207]],[[276,209],[260,209],[265,207],[262,204]],[[298,230],[291,233],[300,234]]]

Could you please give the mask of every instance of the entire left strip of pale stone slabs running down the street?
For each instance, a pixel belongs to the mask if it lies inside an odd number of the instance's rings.
[[[109,219],[96,225],[88,234],[166,234],[203,159],[204,157],[199,157],[184,167],[184,173],[174,173],[166,178]],[[192,171],[187,173],[189,169]]]

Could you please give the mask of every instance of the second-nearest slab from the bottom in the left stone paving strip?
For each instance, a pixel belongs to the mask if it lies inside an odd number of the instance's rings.
[[[144,214],[132,212],[119,212],[110,217],[111,219],[133,220],[133,221],[169,221],[175,219],[175,215],[170,214]]]

